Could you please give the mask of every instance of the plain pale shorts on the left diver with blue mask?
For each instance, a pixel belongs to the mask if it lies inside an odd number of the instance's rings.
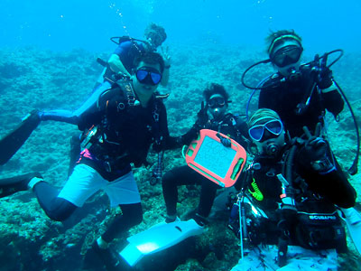
[[[87,164],[77,164],[58,197],[81,207],[94,193],[103,189],[110,206],[139,203],[141,197],[132,172],[109,182]]]

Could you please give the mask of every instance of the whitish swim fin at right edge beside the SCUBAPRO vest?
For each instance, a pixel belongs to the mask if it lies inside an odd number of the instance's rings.
[[[355,208],[341,208],[340,218],[345,221],[348,233],[361,255],[361,214]]]

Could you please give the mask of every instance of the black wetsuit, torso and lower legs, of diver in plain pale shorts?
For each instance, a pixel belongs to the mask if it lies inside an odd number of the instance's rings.
[[[87,131],[97,126],[97,133],[87,146],[87,153],[80,154],[79,164],[88,164],[107,181],[113,181],[131,171],[130,163],[141,166],[146,163],[150,145],[162,137],[160,149],[189,144],[197,131],[180,138],[171,137],[167,126],[167,114],[162,100],[155,95],[147,107],[130,105],[125,85],[114,85],[98,101],[98,110],[88,113],[79,122],[79,129]],[[129,85],[128,85],[129,86]],[[157,118],[157,121],[154,120]],[[52,220],[66,220],[77,209],[73,203],[58,197],[58,190],[48,182],[38,182],[33,191],[42,209]],[[121,204],[122,215],[109,226],[102,238],[110,242],[120,232],[143,220],[141,203]]]

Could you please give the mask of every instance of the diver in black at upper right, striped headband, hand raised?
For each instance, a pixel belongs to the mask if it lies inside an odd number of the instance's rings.
[[[267,41],[270,60],[278,72],[260,85],[258,108],[276,111],[292,137],[301,136],[303,126],[314,130],[323,121],[325,109],[337,118],[344,101],[330,78],[332,71],[301,65],[301,37],[294,31],[271,33]]]

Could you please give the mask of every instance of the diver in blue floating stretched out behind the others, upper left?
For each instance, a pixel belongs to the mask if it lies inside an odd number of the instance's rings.
[[[104,61],[106,66],[102,72],[101,79],[97,82],[90,97],[75,111],[69,110],[33,110],[28,116],[23,118],[22,123],[14,131],[0,140],[0,164],[5,164],[23,145],[32,131],[45,120],[55,120],[78,125],[79,119],[86,112],[97,110],[97,99],[106,89],[109,89],[116,79],[130,78],[134,69],[134,60],[142,53],[156,51],[162,42],[167,38],[167,34],[162,26],[150,23],[144,31],[145,41],[135,40],[130,37],[120,37],[116,42],[118,47],[111,55],[108,62]],[[115,38],[112,38],[114,41]],[[169,70],[171,68],[170,57],[167,52],[164,55],[164,71],[161,84],[166,86],[169,79]],[[73,146],[74,145],[74,146]],[[72,139],[72,147],[79,148],[75,139]]]

